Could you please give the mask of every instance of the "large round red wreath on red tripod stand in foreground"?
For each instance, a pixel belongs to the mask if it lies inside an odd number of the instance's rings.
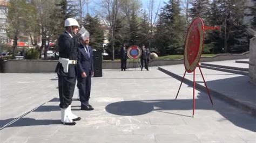
[[[198,64],[201,54],[204,47],[204,31],[205,30],[220,30],[219,26],[204,26],[203,20],[200,17],[195,18],[192,23],[190,24],[190,27],[187,30],[186,35],[186,41],[185,41],[185,49],[184,49],[184,66],[185,66],[185,73],[183,75],[183,78],[181,80],[179,90],[181,87],[181,84],[184,81],[186,72],[192,73],[193,72],[193,117],[194,117],[194,109],[195,109],[195,89],[196,89],[196,68],[198,67],[201,73],[201,76],[203,77],[203,81],[205,83],[205,88],[208,93],[208,96],[210,98],[211,104],[213,105],[212,98],[210,95],[210,91],[207,88],[207,84],[205,82],[204,75],[202,73],[202,70]],[[179,90],[177,92],[176,98],[178,97]]]

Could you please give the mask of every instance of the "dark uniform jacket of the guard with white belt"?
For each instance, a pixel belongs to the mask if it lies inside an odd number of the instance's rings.
[[[78,37],[71,38],[67,32],[64,32],[59,36],[58,39],[59,46],[59,57],[66,58],[69,60],[77,60],[77,47],[78,47]],[[58,75],[67,76],[67,77],[76,77],[76,65],[69,65],[69,72],[65,73],[62,67],[62,64],[58,62],[55,72]]]

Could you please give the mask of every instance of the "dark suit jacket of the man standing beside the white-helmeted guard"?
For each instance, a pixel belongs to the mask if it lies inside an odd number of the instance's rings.
[[[90,51],[90,58],[88,57],[84,46],[82,44],[78,45],[77,50],[77,69],[78,69],[78,77],[81,77],[81,74],[83,72],[86,73],[87,76],[91,76],[93,69],[93,53],[90,46],[88,46],[88,49]]]

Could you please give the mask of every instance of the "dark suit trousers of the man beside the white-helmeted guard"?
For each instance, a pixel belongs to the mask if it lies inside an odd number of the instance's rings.
[[[87,77],[78,77],[77,78],[77,87],[79,89],[79,99],[81,106],[86,105],[89,101],[91,94],[91,76]]]

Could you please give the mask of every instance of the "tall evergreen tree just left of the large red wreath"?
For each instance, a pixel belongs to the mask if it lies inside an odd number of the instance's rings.
[[[183,51],[186,22],[180,11],[180,2],[170,0],[165,3],[159,15],[155,46],[159,48],[161,55]]]

